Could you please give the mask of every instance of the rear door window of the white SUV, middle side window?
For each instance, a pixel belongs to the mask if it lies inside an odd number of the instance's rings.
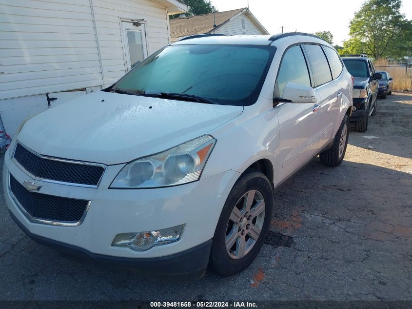
[[[315,87],[332,81],[331,69],[319,45],[305,44],[305,50],[314,74]]]

